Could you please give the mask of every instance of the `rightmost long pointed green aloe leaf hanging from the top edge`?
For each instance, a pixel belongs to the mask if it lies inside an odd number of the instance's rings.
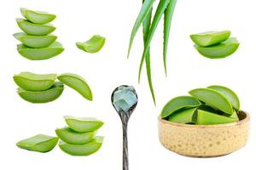
[[[177,0],[170,0],[165,11],[163,60],[164,60],[166,76],[167,76],[167,67],[166,67],[167,48],[168,48],[169,35],[170,35],[170,29],[171,29],[171,23],[172,23],[172,15],[173,15],[176,3],[177,3]]]

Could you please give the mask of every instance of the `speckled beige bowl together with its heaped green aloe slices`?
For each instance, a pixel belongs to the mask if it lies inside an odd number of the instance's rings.
[[[195,88],[171,99],[159,116],[160,143],[183,156],[224,156],[241,149],[250,118],[237,95],[224,86]]]

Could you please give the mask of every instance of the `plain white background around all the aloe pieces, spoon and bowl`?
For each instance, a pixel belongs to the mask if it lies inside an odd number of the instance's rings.
[[[156,1],[158,2],[158,1]],[[156,3],[155,3],[156,5]],[[136,111],[129,122],[131,170],[139,169],[253,169],[255,167],[255,1],[253,0],[178,0],[173,16],[168,48],[166,78],[162,64],[162,21],[155,32],[152,47],[152,72],[157,105],[148,90],[145,70],[137,83],[139,60],[143,52],[142,32],[138,31],[131,58],[126,52],[131,28],[136,20],[140,0],[5,0],[0,3],[1,16],[1,139],[0,169],[90,169],[122,168],[122,130],[119,116],[110,103],[113,88],[121,84],[135,86],[139,96]],[[16,51],[12,34],[20,31],[15,18],[20,7],[56,14],[54,32],[65,51],[41,61],[24,59]],[[230,30],[241,42],[236,54],[226,59],[206,59],[193,48],[189,34],[211,30]],[[98,54],[86,54],[75,46],[94,34],[107,37]],[[66,88],[54,102],[33,105],[20,99],[12,80],[20,71],[35,73],[73,72],[90,83],[94,101],[82,98]],[[217,158],[179,156],[160,145],[157,116],[166,102],[185,95],[190,89],[219,84],[227,86],[241,99],[241,109],[252,116],[251,136],[241,150]],[[58,147],[42,154],[20,150],[15,143],[37,133],[55,135],[55,128],[65,126],[62,116],[95,116],[105,125],[102,149],[87,157],[68,156]],[[254,161],[253,161],[254,160]]]

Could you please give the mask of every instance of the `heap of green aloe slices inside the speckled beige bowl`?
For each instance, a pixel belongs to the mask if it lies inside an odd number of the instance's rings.
[[[239,121],[240,101],[230,88],[214,85],[193,89],[189,94],[171,99],[161,117],[170,122],[198,125]]]

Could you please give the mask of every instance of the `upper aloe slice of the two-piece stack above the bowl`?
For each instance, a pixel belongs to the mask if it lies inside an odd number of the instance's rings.
[[[192,34],[190,38],[196,45],[207,47],[226,41],[230,37],[230,31],[207,31],[199,34]]]

